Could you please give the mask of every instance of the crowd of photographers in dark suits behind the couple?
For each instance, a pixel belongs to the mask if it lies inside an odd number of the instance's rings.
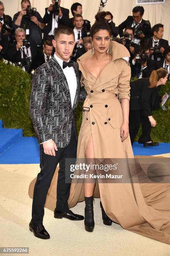
[[[61,25],[74,30],[73,61],[91,49],[91,24],[82,16],[82,5],[71,5],[73,18],[69,18],[69,10],[60,6],[61,0],[51,2],[42,18],[36,8],[31,8],[30,0],[21,0],[21,10],[12,19],[5,14],[5,7],[0,1],[0,59],[31,72],[51,59],[54,30]],[[112,13],[107,11],[105,19],[111,29],[111,39],[124,44],[129,50],[132,77],[150,77],[153,70],[163,67],[168,70],[169,79],[170,47],[162,38],[164,26],[159,23],[151,28],[150,21],[144,20],[143,15],[144,8],[136,6],[131,16],[115,26]]]

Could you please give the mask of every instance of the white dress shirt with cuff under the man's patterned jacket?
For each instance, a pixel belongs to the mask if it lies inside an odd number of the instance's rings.
[[[63,69],[63,60],[60,59],[58,56],[56,56],[56,53],[54,54],[54,58],[58,61],[59,65],[60,65],[61,69],[63,70],[63,73],[65,74],[65,77],[67,79],[67,83],[68,83],[69,91],[70,91],[70,97],[71,97],[71,106],[73,108],[73,103],[74,103],[74,99],[76,96],[76,89],[77,89],[77,79],[76,79],[76,74],[74,72],[74,68],[66,67],[65,69]],[[50,141],[50,140],[48,140],[48,141]],[[45,142],[47,142],[47,141],[44,141],[43,143],[45,143]],[[43,144],[43,143],[41,143],[41,144]]]

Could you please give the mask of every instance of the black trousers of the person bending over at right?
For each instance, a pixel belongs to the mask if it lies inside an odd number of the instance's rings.
[[[138,143],[144,143],[152,141],[150,138],[151,124],[147,116],[144,115],[143,111],[140,110],[130,110],[129,111],[129,135],[131,144],[134,143],[134,139],[140,128],[140,123],[142,123],[142,134],[138,139]]]

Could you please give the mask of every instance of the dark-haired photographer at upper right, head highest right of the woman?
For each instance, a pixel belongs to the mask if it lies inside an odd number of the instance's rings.
[[[136,6],[132,10],[133,16],[128,16],[119,25],[119,35],[123,36],[123,29],[127,27],[134,28],[134,43],[140,45],[142,38],[149,38],[152,36],[152,29],[149,20],[143,20],[144,8],[142,6]]]

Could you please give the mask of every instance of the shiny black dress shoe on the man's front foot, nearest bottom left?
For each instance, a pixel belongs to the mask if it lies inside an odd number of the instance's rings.
[[[34,233],[34,236],[41,238],[41,239],[49,239],[50,235],[48,234],[47,230],[45,230],[43,224],[33,225],[32,220],[29,224],[29,229],[31,232]]]

